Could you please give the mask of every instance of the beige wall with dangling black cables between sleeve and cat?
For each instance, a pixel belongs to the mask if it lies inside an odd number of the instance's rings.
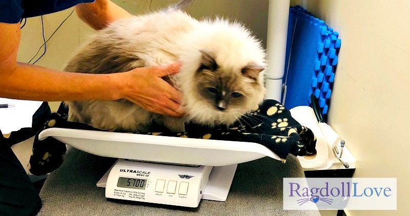
[[[72,11],[73,8],[43,16],[46,40]],[[94,32],[94,30],[80,21],[74,12],[47,42],[46,54],[37,61],[36,65],[62,70],[72,53],[78,49],[81,42],[92,32]],[[22,29],[17,60],[27,63],[36,54],[42,44],[43,33],[41,18],[39,16],[27,18],[26,25]],[[43,52],[44,47],[31,62],[34,62]],[[58,105],[59,102],[50,103],[53,111],[58,109]]]

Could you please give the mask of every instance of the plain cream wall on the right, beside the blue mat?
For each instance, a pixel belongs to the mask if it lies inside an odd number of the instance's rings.
[[[397,211],[408,215],[410,1],[294,1],[340,33],[330,125],[357,159],[354,177],[397,178]],[[377,205],[377,204],[375,204]]]

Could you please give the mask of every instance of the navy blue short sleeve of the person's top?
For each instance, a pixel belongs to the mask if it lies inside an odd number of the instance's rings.
[[[18,23],[21,18],[65,10],[94,0],[0,0],[0,23]]]

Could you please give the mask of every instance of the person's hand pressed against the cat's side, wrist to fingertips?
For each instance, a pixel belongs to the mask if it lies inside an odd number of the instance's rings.
[[[181,94],[161,77],[179,72],[181,64],[136,68],[120,75],[125,91],[123,98],[142,108],[162,115],[181,117]]]

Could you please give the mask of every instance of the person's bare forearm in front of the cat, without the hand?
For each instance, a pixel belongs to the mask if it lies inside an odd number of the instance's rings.
[[[39,100],[115,100],[121,97],[119,79],[113,74],[60,72],[31,64],[17,63],[3,72],[0,97]]]

